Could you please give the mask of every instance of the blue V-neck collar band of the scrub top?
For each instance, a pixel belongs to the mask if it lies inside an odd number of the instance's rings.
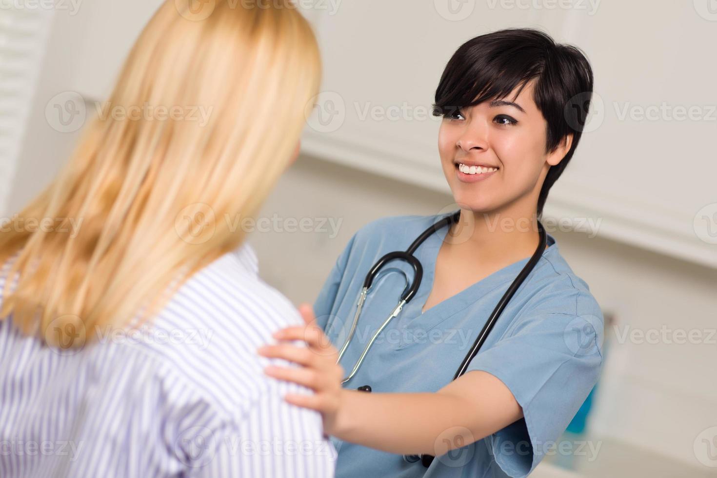
[[[436,218],[436,221],[440,219],[442,218]],[[426,312],[422,312],[422,308],[433,288],[438,253],[447,234],[448,227],[442,227],[437,230],[435,234],[431,234],[421,247],[417,249],[416,255],[424,266],[424,275],[416,296],[409,302],[407,307],[404,307],[404,313],[399,315],[399,317],[401,317],[401,320],[399,320],[399,328],[402,330],[402,333],[397,348],[402,348],[414,340],[421,338],[428,330],[473,304],[478,300],[478,297],[483,297],[483,295],[495,289],[495,287],[500,287],[500,285],[504,285],[506,282],[513,282],[513,279],[518,276],[518,273],[521,272],[533,255],[531,254],[531,257],[524,257],[512,264],[508,264],[502,269],[498,269],[487,277],[480,279],[480,281],[466,287],[464,290],[457,292],[457,294],[442,300]],[[552,252],[557,249],[555,238],[547,234],[547,239],[549,247],[543,250],[543,256],[545,254],[552,254]],[[485,318],[487,319],[488,316]]]

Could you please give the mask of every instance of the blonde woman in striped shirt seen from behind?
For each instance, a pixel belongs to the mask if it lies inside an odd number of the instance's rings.
[[[320,59],[287,1],[166,1],[108,115],[18,215],[81,224],[0,233],[0,476],[333,476],[308,388],[255,353],[300,325],[232,230],[295,158]],[[242,245],[244,244],[244,245]],[[282,361],[281,361],[282,362]],[[283,362],[282,362],[283,363]]]

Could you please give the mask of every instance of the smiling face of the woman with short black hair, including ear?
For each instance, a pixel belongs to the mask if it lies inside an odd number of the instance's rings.
[[[447,112],[438,135],[443,172],[457,204],[475,212],[535,214],[549,166],[547,122],[533,101],[533,82],[505,98]],[[517,206],[513,209],[511,206]]]

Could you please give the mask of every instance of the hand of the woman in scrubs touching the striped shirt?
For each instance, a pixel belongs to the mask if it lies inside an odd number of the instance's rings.
[[[296,406],[319,411],[323,416],[324,432],[331,435],[343,404],[343,367],[336,363],[338,350],[316,325],[313,308],[303,304],[299,312],[305,325],[277,330],[273,337],[280,342],[277,345],[264,345],[257,353],[300,365],[298,368],[270,365],[264,371],[268,376],[311,388],[313,395],[288,393],[285,400]],[[290,342],[293,340],[303,340],[307,347],[292,345]]]

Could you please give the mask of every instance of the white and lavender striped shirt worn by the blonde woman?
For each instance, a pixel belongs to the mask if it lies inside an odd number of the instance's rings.
[[[333,477],[320,414],[282,398],[310,391],[263,373],[287,363],[256,349],[303,321],[257,274],[244,244],[147,327],[79,349],[1,320],[0,477]]]

